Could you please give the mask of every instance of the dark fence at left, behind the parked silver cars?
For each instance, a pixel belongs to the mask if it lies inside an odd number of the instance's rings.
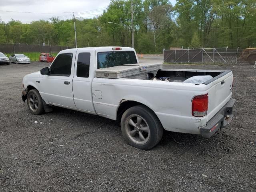
[[[52,46],[52,45],[28,45],[28,44],[0,44],[0,52],[3,53],[20,53],[20,52],[40,52],[40,53],[52,53],[59,52],[71,47],[68,46]]]

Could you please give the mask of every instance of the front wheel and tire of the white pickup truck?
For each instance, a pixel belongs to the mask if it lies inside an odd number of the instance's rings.
[[[38,90],[32,89],[28,92],[27,104],[28,104],[28,109],[32,114],[40,115],[44,113],[43,100]]]

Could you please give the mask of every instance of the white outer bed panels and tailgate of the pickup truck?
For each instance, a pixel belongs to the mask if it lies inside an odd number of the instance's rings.
[[[130,78],[94,78],[93,102],[96,113],[116,120],[116,110],[124,101],[135,101],[151,108],[166,130],[200,134],[198,127],[207,122],[231,99],[233,75],[230,70],[158,70],[156,78],[186,80],[192,76],[211,75],[202,84],[164,82]],[[115,93],[115,94],[113,94]],[[208,94],[207,115],[192,116],[194,96]],[[98,96],[100,95],[100,96]],[[100,98],[100,99],[99,99]]]

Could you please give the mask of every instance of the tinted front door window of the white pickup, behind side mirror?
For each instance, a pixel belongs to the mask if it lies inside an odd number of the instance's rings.
[[[72,66],[72,53],[64,53],[57,56],[50,66],[50,75],[70,76]]]

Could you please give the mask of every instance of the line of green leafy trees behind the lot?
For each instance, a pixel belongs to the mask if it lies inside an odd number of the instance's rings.
[[[256,46],[255,0],[177,0],[175,6],[168,0],[112,0],[100,16],[76,18],[78,47],[132,46],[132,30],[122,26],[132,26],[132,10],[137,52]],[[73,19],[52,17],[30,24],[0,20],[0,44],[43,42],[74,47]]]

